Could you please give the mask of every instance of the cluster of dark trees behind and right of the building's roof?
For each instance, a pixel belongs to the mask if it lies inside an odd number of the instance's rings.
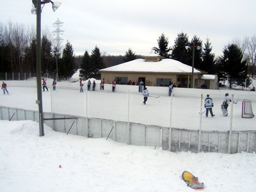
[[[217,74],[220,85],[228,80],[230,87],[232,84],[248,86],[250,85],[248,73],[250,72],[252,76],[255,74],[256,36],[245,38],[242,45],[234,40],[232,44],[224,47],[223,55],[218,57],[212,53],[209,38],[203,45],[198,36],[193,36],[189,41],[188,34],[181,32],[175,38],[173,46],[168,47],[168,43],[168,37],[162,33],[157,40],[158,47],[153,47],[152,50],[164,58],[171,58],[192,66],[193,49],[186,49],[186,47],[196,47],[197,49],[194,48],[194,67],[208,74]]]

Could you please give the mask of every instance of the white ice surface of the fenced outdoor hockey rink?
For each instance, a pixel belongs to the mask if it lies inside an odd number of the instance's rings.
[[[36,88],[31,87],[8,87],[10,95],[0,95],[0,106],[12,108],[22,108],[38,110],[36,104]],[[212,111],[214,117],[205,113],[204,104],[201,103],[201,95],[195,94],[175,94],[173,97],[159,95],[150,92],[150,96],[160,96],[159,98],[148,97],[147,104],[143,104],[143,95],[139,92],[111,92],[111,90],[88,91],[84,87],[84,92],[76,89],[57,89],[49,92],[42,92],[44,112],[61,113],[65,115],[88,116],[89,118],[102,118],[106,120],[116,120],[145,125],[156,125],[159,127],[173,127],[177,129],[198,130],[202,125],[203,131],[253,131],[255,130],[256,118],[241,118],[243,99],[251,99],[252,107],[255,109],[254,98],[244,98],[244,95],[234,95],[233,115],[232,105],[228,106],[228,116],[223,116],[221,103],[225,95],[213,95],[210,97],[214,101]],[[203,100],[206,95],[203,95]],[[231,118],[233,117],[233,118]],[[201,121],[202,120],[202,121]]]

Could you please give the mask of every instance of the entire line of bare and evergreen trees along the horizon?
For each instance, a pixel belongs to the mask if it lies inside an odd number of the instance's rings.
[[[248,79],[248,72],[253,76],[256,68],[256,36],[245,37],[243,42],[233,40],[223,48],[223,55],[216,57],[212,53],[212,45],[209,38],[203,45],[198,36],[193,36],[189,40],[188,34],[177,34],[174,45],[168,45],[168,37],[162,33],[157,39],[158,47],[152,47],[152,51],[172,58],[186,65],[192,65],[192,49],[186,46],[199,46],[195,49],[195,68],[204,70],[208,74],[217,74],[219,81],[228,79],[232,83],[244,85],[244,80]],[[60,54],[56,53],[56,47],[52,43],[51,33],[42,33],[41,40],[42,54],[42,74],[56,73],[56,59],[58,59],[59,76],[68,79],[81,68],[81,78],[100,78],[99,70],[111,67],[127,61],[143,58],[137,55],[132,49],[125,51],[124,56],[111,56],[100,52],[99,47],[89,54],[85,51],[83,56],[75,56],[72,44],[67,42]],[[58,57],[58,58],[56,58]],[[36,33],[35,28],[27,27],[23,24],[12,24],[3,27],[0,23],[0,71],[20,72],[21,74],[36,72]],[[240,80],[239,80],[240,79]],[[248,82],[247,81],[247,82]]]

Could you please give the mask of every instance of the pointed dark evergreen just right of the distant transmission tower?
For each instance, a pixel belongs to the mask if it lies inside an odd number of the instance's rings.
[[[65,79],[68,79],[72,77],[76,71],[77,65],[74,60],[74,49],[70,42],[67,42],[63,49],[60,65],[58,65],[58,73],[60,76],[64,76]]]

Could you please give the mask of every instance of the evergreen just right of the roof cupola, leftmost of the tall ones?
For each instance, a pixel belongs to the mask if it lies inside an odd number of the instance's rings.
[[[168,47],[168,38],[162,33],[157,40],[158,47],[153,47],[152,50],[160,56],[164,56],[164,58],[170,58],[169,52],[171,48]]]

